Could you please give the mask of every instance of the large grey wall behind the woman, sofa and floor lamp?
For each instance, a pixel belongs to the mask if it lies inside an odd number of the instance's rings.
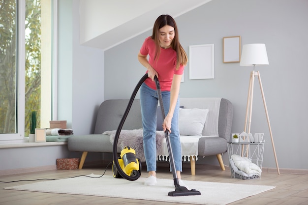
[[[222,39],[242,37],[242,45],[265,43],[269,65],[258,66],[268,107],[280,168],[308,169],[308,1],[213,0],[176,18],[180,41],[189,45],[215,45],[215,79],[185,82],[181,97],[224,97],[234,105],[232,132],[244,130],[249,74],[252,67],[223,63]],[[153,24],[154,24],[153,19]],[[146,71],[137,60],[143,40],[151,30],[105,51],[104,98],[128,99]],[[258,81],[254,87],[251,133],[264,132],[263,167],[276,168]],[[137,95],[138,98],[139,95]],[[227,154],[223,156],[227,164]],[[211,158],[211,163],[213,158]],[[199,163],[208,163],[200,159]],[[216,162],[215,162],[216,163]]]

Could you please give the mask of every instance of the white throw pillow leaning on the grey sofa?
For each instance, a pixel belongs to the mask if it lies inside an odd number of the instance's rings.
[[[179,111],[179,131],[180,135],[202,136],[202,130],[209,109],[186,109]]]

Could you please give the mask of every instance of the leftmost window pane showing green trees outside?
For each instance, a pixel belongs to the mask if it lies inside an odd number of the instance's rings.
[[[16,132],[16,2],[0,4],[0,133]]]

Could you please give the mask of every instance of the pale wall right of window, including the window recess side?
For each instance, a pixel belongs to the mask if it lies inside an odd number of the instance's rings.
[[[74,134],[89,134],[104,101],[104,51],[79,43],[79,0],[59,0],[58,6],[58,119]]]

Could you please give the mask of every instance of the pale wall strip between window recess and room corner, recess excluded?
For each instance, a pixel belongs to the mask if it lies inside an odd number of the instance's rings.
[[[73,1],[73,106],[74,134],[94,131],[96,110],[104,101],[104,51],[79,44],[79,3]]]

